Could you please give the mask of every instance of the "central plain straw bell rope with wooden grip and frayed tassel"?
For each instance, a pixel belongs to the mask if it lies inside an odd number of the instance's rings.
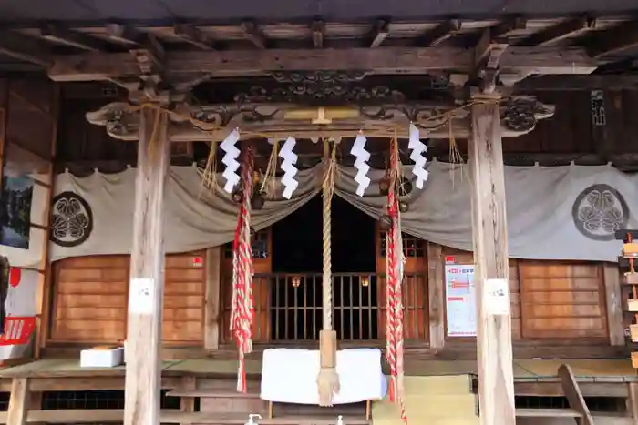
[[[324,200],[324,276],[323,276],[323,329],[319,332],[319,353],[321,368],[317,376],[317,390],[319,392],[319,405],[332,406],[335,393],[339,392],[339,375],[336,372],[336,332],[333,330],[333,278],[332,278],[332,252],[331,252],[331,203],[334,192],[334,169],[336,147],[332,156],[329,156],[329,145],[324,141],[324,160],[327,166],[322,187]]]

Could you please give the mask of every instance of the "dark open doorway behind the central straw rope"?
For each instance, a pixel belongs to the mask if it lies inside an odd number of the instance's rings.
[[[322,197],[273,225],[271,339],[316,340],[322,328]],[[376,339],[375,220],[332,202],[333,326],[339,339]]]

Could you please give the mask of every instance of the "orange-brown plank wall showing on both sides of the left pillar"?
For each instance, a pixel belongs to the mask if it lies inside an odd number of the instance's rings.
[[[204,252],[166,258],[163,341],[202,345]],[[50,340],[114,343],[126,338],[129,256],[67,258],[54,265]]]

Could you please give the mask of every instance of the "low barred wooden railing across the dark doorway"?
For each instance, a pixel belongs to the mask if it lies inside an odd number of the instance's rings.
[[[256,341],[314,341],[323,326],[321,273],[254,275]],[[385,338],[385,275],[333,274],[333,328],[342,341]],[[230,282],[227,283],[230,285]],[[427,338],[427,278],[404,278],[406,339]],[[230,317],[230,304],[224,306]],[[409,329],[407,329],[409,328]]]

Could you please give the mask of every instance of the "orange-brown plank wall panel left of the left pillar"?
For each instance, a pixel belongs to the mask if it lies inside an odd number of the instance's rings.
[[[129,259],[69,258],[54,265],[51,339],[116,342],[126,335]]]

